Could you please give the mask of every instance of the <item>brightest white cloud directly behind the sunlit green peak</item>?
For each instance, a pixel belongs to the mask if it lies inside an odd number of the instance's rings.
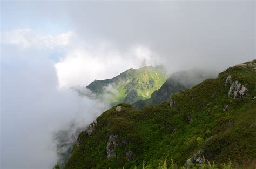
[[[142,45],[120,51],[110,43],[83,43],[73,48],[55,67],[60,87],[85,86],[95,79],[117,76],[131,67],[156,65],[159,63],[156,58],[156,53]]]

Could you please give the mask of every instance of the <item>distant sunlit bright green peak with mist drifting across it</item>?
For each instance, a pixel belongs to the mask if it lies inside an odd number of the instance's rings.
[[[95,80],[86,88],[99,99],[107,94],[112,105],[122,102],[132,104],[139,99],[150,98],[166,79],[167,74],[162,66],[144,66],[126,70],[112,79]]]

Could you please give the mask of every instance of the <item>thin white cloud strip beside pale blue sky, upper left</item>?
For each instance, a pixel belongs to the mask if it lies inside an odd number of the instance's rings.
[[[16,29],[5,31],[2,42],[17,45],[20,48],[55,49],[70,45],[73,32],[66,32],[57,36],[40,35],[31,29]]]

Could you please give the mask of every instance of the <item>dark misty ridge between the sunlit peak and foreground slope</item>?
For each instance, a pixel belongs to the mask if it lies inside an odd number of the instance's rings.
[[[159,90],[152,93],[151,98],[138,100],[132,106],[136,109],[141,109],[148,105],[160,104],[170,99],[172,94],[191,88],[203,82],[205,79],[216,77],[216,75],[217,73],[200,69],[190,69],[173,73]]]

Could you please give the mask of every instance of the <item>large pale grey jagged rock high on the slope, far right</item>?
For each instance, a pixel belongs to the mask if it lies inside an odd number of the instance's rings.
[[[248,91],[249,90],[245,86],[243,86],[241,83],[238,83],[238,81],[236,80],[230,86],[230,90],[228,91],[228,97],[244,97]]]

